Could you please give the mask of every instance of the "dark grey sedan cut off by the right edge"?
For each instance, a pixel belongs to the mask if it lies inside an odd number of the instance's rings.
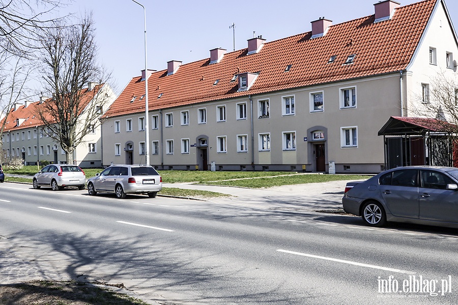
[[[342,204],[369,226],[392,221],[458,228],[458,168],[398,167],[349,182]]]

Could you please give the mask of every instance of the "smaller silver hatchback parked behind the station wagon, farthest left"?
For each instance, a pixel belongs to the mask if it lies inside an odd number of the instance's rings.
[[[51,187],[53,191],[62,190],[65,187],[77,187],[79,190],[84,190],[85,183],[84,171],[70,164],[47,165],[33,178],[34,189]]]

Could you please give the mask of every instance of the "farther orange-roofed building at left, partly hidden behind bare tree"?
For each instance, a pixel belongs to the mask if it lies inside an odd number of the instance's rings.
[[[116,95],[108,84],[89,83],[82,89],[81,105],[97,103],[101,115],[115,101]],[[36,165],[41,161],[66,163],[66,155],[60,144],[50,137],[50,132],[40,120],[39,109],[51,98],[40,98],[38,102],[15,104],[8,115],[0,120],[0,126],[6,119],[3,130],[2,152],[5,160],[20,157],[26,165]],[[46,109],[46,108],[44,108]],[[87,119],[81,115],[81,120]],[[83,122],[81,122],[83,126]],[[84,137],[74,151],[74,162],[80,167],[100,167],[102,165],[101,125],[91,125],[91,131]]]

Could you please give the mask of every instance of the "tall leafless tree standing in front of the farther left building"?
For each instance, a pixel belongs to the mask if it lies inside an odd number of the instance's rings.
[[[84,137],[101,124],[101,114],[111,97],[107,86],[86,88],[109,79],[97,63],[94,23],[89,14],[79,24],[46,31],[43,44],[43,79],[52,99],[39,107],[39,117],[50,137],[73,163],[73,152]],[[110,90],[110,89],[109,89]]]

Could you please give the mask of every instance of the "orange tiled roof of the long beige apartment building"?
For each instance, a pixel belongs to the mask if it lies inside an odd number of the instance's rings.
[[[255,54],[247,49],[226,53],[217,64],[210,58],[167,70],[148,79],[149,109],[163,109],[199,102],[262,94],[277,90],[397,72],[406,69],[437,0],[396,9],[390,20],[374,23],[375,15],[332,25],[325,36],[311,39],[311,32],[264,43]],[[354,63],[344,65],[349,55]],[[333,63],[329,58],[336,55]],[[292,65],[289,72],[284,72]],[[234,74],[259,73],[254,84],[238,92]],[[213,85],[219,79],[218,84]],[[145,83],[134,77],[105,115],[145,111]],[[159,94],[162,96],[158,99]],[[130,103],[132,97],[134,102]]]

